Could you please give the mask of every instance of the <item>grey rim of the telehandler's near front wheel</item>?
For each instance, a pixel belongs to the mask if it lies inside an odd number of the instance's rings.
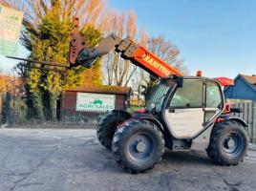
[[[128,141],[128,156],[136,162],[150,159],[155,151],[153,138],[146,133],[134,135]]]

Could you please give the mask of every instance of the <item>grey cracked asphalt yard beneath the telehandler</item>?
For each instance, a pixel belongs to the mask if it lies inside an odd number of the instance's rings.
[[[146,174],[117,168],[95,130],[0,129],[0,191],[256,190],[256,152],[232,167],[167,152]]]

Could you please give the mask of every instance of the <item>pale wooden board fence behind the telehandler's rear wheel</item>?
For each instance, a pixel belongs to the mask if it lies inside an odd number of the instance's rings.
[[[247,122],[248,127],[246,131],[249,135],[249,140],[250,142],[256,143],[256,103],[242,99],[227,99],[227,102],[231,107],[241,108],[243,110],[241,114],[232,115],[241,117]]]

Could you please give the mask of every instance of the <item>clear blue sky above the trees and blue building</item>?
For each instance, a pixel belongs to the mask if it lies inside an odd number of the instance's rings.
[[[254,0],[108,0],[119,11],[134,10],[140,28],[163,34],[181,51],[191,74],[256,74],[256,1]],[[19,46],[18,56],[27,52]],[[8,65],[3,63],[9,63]],[[17,63],[0,55],[5,71]]]

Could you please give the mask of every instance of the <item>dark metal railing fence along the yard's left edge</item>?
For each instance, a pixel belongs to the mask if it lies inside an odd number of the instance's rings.
[[[103,117],[106,111],[84,111],[76,112],[72,110],[62,110],[59,114],[54,114],[50,110],[44,111],[44,117],[38,117],[32,108],[16,108],[10,110],[6,115],[5,122],[12,127],[74,127],[92,128],[98,120]]]

